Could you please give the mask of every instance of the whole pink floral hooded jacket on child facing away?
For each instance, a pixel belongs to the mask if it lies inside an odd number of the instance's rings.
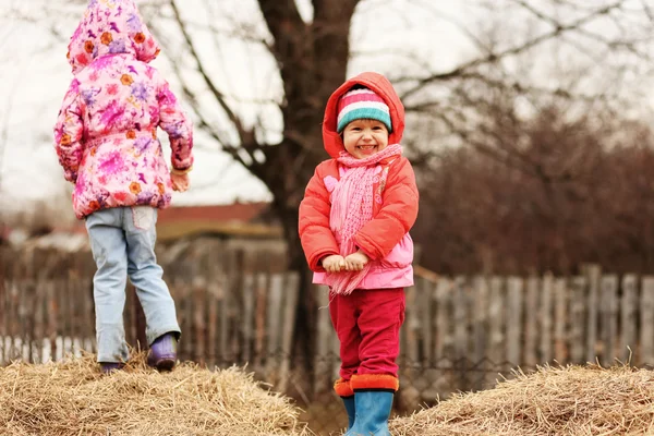
[[[110,207],[170,204],[158,126],[170,138],[172,167],[193,165],[192,123],[148,65],[158,52],[133,0],[89,1],[69,45],[75,77],[55,126],[64,178],[75,184],[77,218]]]

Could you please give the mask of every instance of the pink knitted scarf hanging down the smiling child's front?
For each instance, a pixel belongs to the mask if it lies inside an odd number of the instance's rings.
[[[392,144],[379,153],[356,159],[341,152],[338,162],[349,168],[331,193],[329,226],[339,243],[340,255],[356,251],[354,235],[373,219],[373,198],[376,166],[389,157],[402,154],[400,144]],[[371,269],[368,262],[361,271],[327,272],[326,281],[332,293],[348,295],[363,281]]]

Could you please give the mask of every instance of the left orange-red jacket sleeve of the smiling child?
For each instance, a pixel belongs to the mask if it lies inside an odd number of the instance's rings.
[[[300,241],[311,270],[323,272],[320,259],[338,254],[339,249],[329,227],[331,203],[329,192],[319,175],[320,166],[310,180],[300,203]]]

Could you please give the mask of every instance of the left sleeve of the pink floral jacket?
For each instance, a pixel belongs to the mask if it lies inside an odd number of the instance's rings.
[[[72,183],[77,181],[77,171],[84,152],[83,134],[84,119],[80,98],[80,82],[75,78],[71,82],[65,97],[63,97],[63,104],[55,124],[57,157],[63,168],[63,177]]]

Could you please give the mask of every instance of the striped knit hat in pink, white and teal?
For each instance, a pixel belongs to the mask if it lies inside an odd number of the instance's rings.
[[[346,125],[354,120],[371,119],[386,124],[389,132],[392,131],[390,122],[390,110],[382,97],[374,90],[358,87],[348,90],[338,101],[337,132],[341,133]]]

